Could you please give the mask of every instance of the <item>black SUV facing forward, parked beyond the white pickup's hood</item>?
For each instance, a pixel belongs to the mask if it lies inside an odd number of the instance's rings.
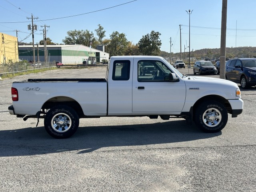
[[[199,73],[199,75],[202,74],[217,74],[216,67],[212,64],[210,61],[197,61],[194,64],[193,69],[194,75],[196,73]]]

